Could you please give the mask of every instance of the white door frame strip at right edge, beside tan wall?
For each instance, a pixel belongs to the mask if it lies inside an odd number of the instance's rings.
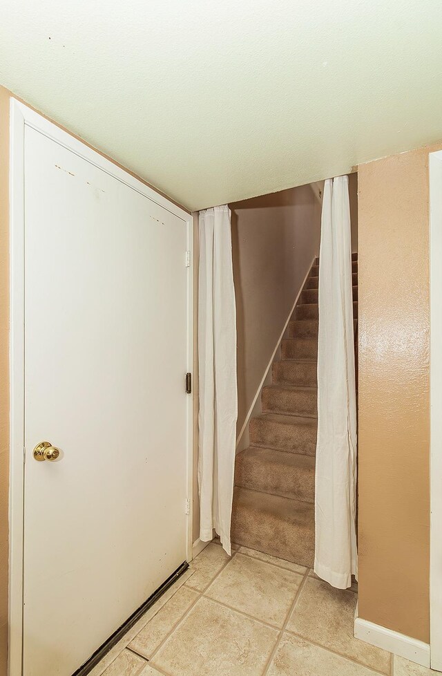
[[[430,661],[442,671],[442,151],[430,153]]]

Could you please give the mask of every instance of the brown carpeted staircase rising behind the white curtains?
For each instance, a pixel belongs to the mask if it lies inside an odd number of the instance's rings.
[[[353,310],[358,262],[352,254]],[[249,424],[250,447],[236,456],[232,541],[308,567],[314,563],[318,259],[287,338],[262,388],[262,415]]]

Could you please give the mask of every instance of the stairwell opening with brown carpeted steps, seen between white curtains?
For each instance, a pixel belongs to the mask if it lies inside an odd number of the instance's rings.
[[[232,541],[306,567],[314,563],[322,188],[230,205],[238,330]],[[357,174],[349,192],[356,336]]]

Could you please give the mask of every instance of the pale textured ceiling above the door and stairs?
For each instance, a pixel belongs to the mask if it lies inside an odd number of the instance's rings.
[[[0,83],[190,209],[442,139],[441,0],[1,0]]]

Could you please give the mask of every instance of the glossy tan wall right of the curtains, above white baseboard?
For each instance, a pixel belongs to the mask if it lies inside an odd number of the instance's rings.
[[[425,642],[428,150],[358,168],[359,615]]]

